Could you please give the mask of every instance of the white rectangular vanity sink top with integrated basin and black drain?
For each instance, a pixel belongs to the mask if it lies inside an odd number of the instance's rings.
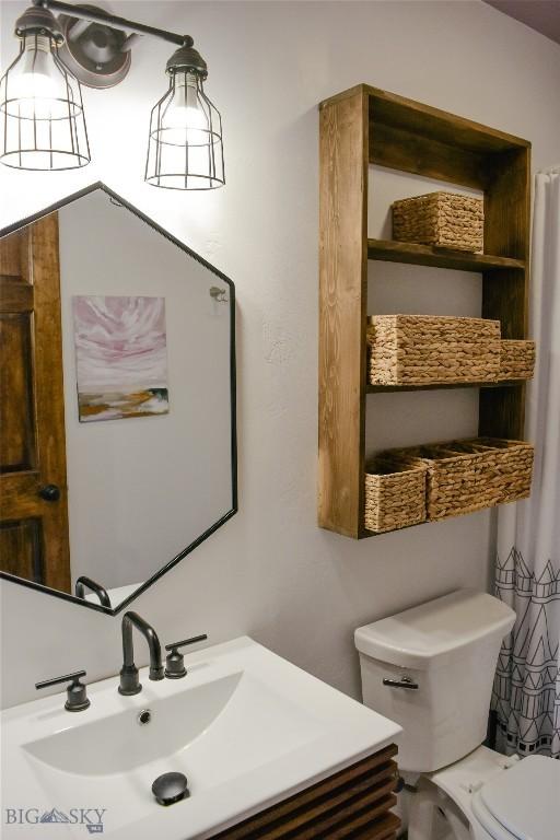
[[[63,695],[3,712],[2,838],[84,840],[97,824],[122,840],[202,840],[400,732],[247,638],[185,662],[183,679],[141,670],[135,697],[117,692],[118,677],[90,685],[84,712],[65,711]],[[187,775],[190,796],[163,807],[151,786],[170,771]],[[44,814],[57,824],[30,825]]]

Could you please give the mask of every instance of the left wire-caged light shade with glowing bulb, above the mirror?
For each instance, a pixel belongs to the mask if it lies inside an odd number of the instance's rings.
[[[15,34],[20,54],[0,80],[0,161],[21,170],[90,163],[80,83],[58,57],[62,36],[46,9],[28,9]]]

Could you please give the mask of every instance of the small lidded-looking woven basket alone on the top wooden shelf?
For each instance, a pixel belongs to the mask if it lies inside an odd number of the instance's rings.
[[[483,199],[452,192],[428,192],[395,201],[393,238],[441,248],[482,252]]]

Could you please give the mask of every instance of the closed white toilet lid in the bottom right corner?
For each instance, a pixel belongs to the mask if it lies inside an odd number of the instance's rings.
[[[472,814],[495,840],[558,840],[560,761],[528,756],[475,793]]]

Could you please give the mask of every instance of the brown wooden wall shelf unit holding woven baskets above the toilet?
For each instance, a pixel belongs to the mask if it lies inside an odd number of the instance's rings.
[[[361,538],[366,395],[405,389],[368,385],[368,261],[480,272],[482,317],[526,338],[530,143],[366,84],[319,108],[318,522]],[[370,164],[483,190],[488,254],[369,238]],[[485,383],[479,406],[480,435],[523,439],[525,383]]]

